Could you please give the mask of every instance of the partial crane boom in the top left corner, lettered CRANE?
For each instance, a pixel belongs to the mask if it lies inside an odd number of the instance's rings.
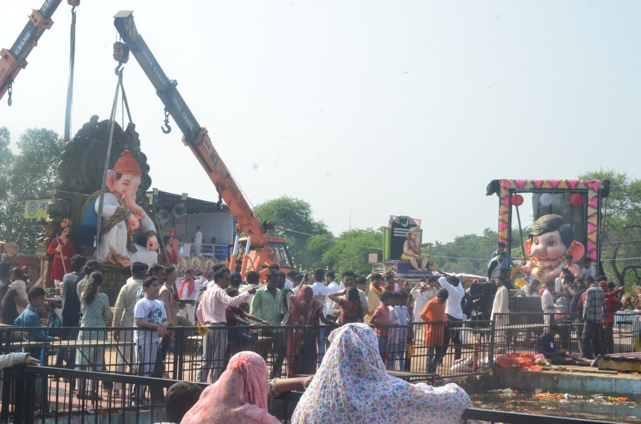
[[[53,25],[51,16],[56,12],[61,1],[45,0],[40,9],[34,9],[31,12],[29,22],[24,26],[11,49],[0,50],[0,99],[11,87],[18,73],[27,66],[26,58],[38,44],[42,33]]]

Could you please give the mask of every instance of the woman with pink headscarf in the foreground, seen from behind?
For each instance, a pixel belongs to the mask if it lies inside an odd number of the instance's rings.
[[[254,352],[229,359],[227,370],[204,389],[181,424],[280,424],[267,411],[267,364]]]

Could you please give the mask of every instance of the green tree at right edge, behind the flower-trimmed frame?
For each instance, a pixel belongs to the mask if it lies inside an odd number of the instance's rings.
[[[609,179],[610,194],[603,199],[601,263],[606,275],[619,284],[641,278],[641,179],[612,169],[590,171],[580,179]],[[631,259],[629,259],[631,258]]]

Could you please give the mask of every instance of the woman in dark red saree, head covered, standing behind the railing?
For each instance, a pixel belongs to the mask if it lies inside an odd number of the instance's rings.
[[[311,329],[287,330],[287,377],[297,374],[313,374],[318,361],[316,336],[319,332],[319,320],[327,325],[336,325],[322,314],[323,305],[314,300],[310,286],[301,286],[296,294],[290,297],[289,319],[287,325],[312,325]],[[304,356],[306,355],[306,356]]]

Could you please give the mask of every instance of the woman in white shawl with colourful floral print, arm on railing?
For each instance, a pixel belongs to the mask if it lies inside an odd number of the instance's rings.
[[[390,377],[376,334],[365,324],[344,325],[329,341],[292,424],[453,424],[470,404],[456,384],[431,387]]]

